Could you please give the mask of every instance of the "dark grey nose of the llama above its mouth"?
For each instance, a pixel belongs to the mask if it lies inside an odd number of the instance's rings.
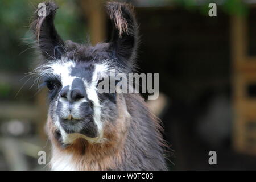
[[[61,90],[60,92],[60,97],[67,99],[69,102],[74,102],[80,100],[81,98],[84,98],[85,94],[79,88],[73,88],[71,92],[69,92],[68,88],[63,88],[63,90]]]

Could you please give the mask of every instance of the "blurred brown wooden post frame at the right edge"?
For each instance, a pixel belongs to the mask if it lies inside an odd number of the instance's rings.
[[[233,145],[238,152],[256,154],[256,97],[250,92],[256,86],[256,56],[248,55],[246,17],[232,16],[230,28],[234,90]]]

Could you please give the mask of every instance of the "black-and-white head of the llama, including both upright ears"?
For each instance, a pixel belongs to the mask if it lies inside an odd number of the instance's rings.
[[[99,93],[102,78],[111,71],[133,71],[137,48],[137,23],[130,7],[110,2],[106,10],[113,24],[112,39],[96,46],[64,42],[53,20],[57,6],[45,3],[45,16],[32,24],[43,64],[36,70],[49,89],[49,113],[63,144],[77,138],[101,142],[104,129],[118,118],[118,94]]]

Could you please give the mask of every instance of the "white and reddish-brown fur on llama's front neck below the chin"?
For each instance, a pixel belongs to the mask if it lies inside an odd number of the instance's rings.
[[[77,146],[75,146],[77,142]],[[76,140],[72,147],[65,151],[57,148],[53,149],[51,168],[53,170],[109,170],[116,169],[122,163],[122,150],[106,145],[85,144],[86,141]],[[76,148],[77,147],[77,148]],[[83,154],[80,151],[85,150]]]

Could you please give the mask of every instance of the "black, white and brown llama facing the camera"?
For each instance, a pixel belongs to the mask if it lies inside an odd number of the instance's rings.
[[[112,39],[96,46],[64,42],[53,20],[57,5],[45,3],[46,16],[31,30],[42,65],[36,69],[49,90],[46,130],[52,170],[166,170],[161,123],[139,94],[98,93],[110,69],[133,73],[138,25],[133,7],[108,2]],[[36,11],[38,12],[38,11]]]

